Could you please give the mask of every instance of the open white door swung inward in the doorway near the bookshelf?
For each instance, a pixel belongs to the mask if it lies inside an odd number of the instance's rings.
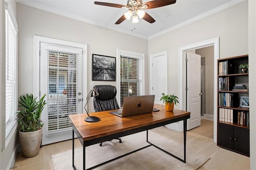
[[[201,125],[201,56],[187,52],[187,111],[190,111],[187,129]]]

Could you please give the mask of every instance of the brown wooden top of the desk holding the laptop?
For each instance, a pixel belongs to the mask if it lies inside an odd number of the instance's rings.
[[[90,113],[90,116],[100,118],[100,121],[95,123],[84,121],[88,117],[84,113],[69,115],[68,117],[73,129],[76,128],[74,131],[78,131],[83,140],[86,141],[190,115],[190,112],[175,109],[173,112],[167,112],[164,105],[154,105],[154,107],[160,111],[123,118],[113,115],[109,111]]]

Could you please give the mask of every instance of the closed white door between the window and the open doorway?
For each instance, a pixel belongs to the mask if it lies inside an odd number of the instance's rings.
[[[150,55],[150,94],[155,95],[156,104],[160,101],[162,93],[167,94],[167,51]]]

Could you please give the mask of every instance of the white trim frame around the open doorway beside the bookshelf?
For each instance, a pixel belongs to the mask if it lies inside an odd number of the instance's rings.
[[[186,110],[186,51],[200,49],[203,47],[214,46],[214,94],[213,94],[213,120],[214,120],[214,142],[217,142],[217,59],[219,59],[219,38],[212,38],[198,43],[193,43],[183,47],[179,47],[179,97],[180,105],[179,109]],[[183,123],[180,122],[180,127],[183,127]],[[182,129],[180,128],[180,131]]]

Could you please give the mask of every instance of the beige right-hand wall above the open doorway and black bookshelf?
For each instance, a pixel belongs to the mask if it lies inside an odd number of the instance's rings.
[[[220,37],[220,58],[248,54],[247,1],[148,41],[149,54],[167,50],[168,93],[179,91],[178,48],[216,37]]]

